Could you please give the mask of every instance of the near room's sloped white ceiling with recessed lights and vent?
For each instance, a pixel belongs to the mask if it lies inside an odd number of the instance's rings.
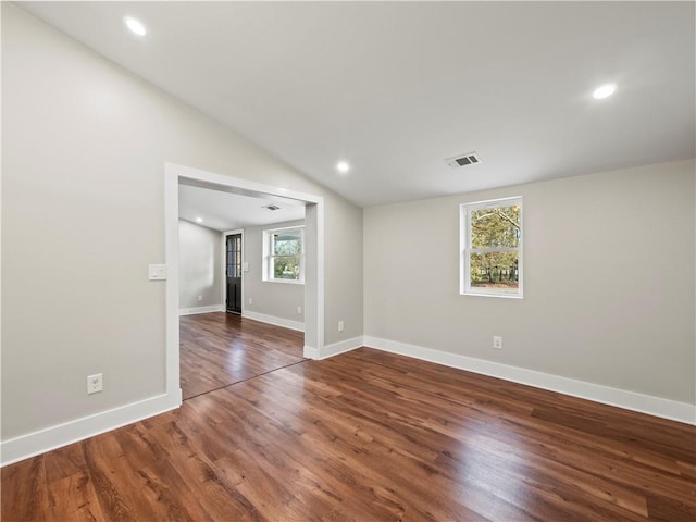
[[[694,2],[20,5],[363,207],[696,156]]]

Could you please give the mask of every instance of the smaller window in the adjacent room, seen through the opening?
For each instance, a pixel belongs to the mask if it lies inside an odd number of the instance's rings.
[[[263,281],[304,283],[304,227],[263,231]]]

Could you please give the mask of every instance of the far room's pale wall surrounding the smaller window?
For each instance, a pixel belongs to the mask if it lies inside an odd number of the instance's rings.
[[[304,285],[263,281],[263,231],[303,225],[304,221],[289,221],[244,229],[244,259],[249,272],[244,274],[244,311],[271,315],[299,323],[304,322]],[[253,302],[249,304],[249,299]],[[297,307],[302,313],[297,313]]]

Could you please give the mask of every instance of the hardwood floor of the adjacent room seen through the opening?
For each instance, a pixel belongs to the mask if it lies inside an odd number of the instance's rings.
[[[184,399],[303,361],[304,334],[212,312],[179,318]]]

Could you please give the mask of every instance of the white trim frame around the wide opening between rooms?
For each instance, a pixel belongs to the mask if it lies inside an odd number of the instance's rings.
[[[179,165],[164,164],[164,251],[166,395],[182,403],[179,382],[178,315],[178,186],[192,185],[214,190],[272,199],[283,197],[304,202],[304,347],[303,357],[319,359],[324,348],[324,198],[283,187]]]

